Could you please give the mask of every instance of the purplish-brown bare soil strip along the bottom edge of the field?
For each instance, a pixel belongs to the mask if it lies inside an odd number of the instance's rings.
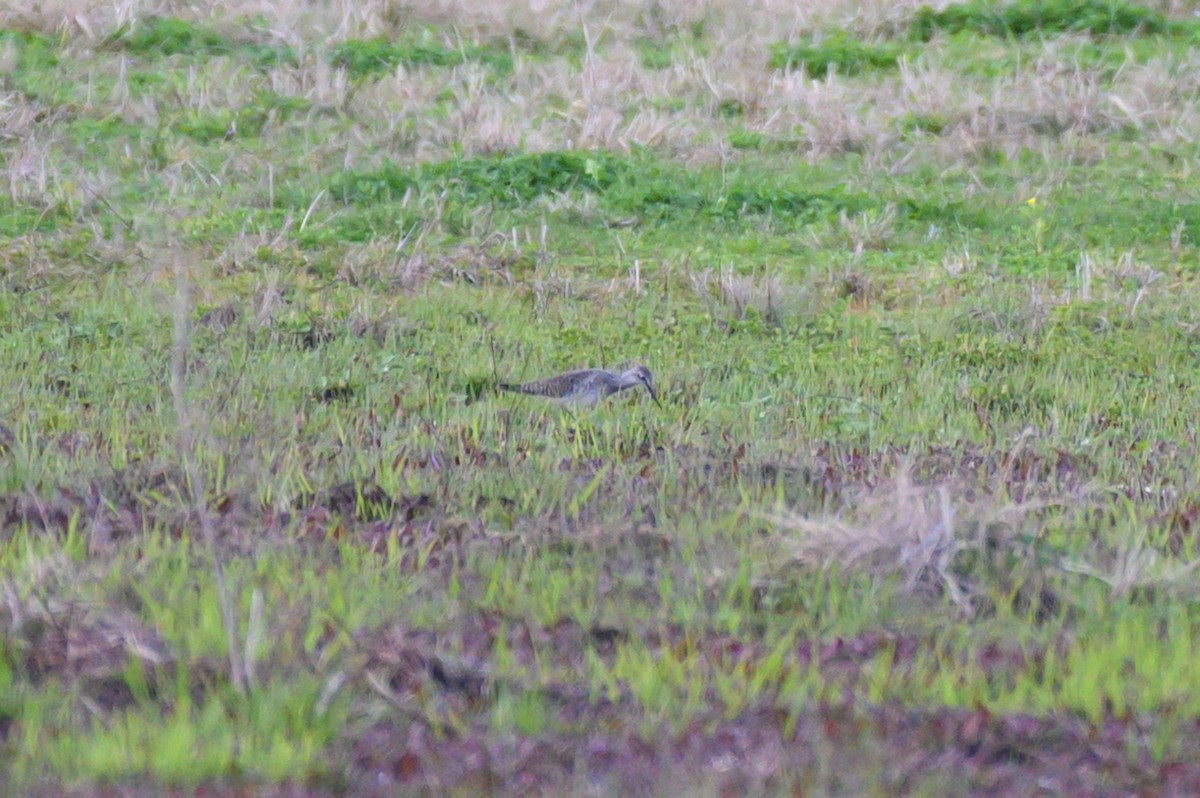
[[[646,733],[612,707],[575,709],[570,731],[534,738],[480,728],[438,737],[419,722],[380,721],[355,743],[367,791],[480,790],[488,794],[941,794],[1192,796],[1193,756],[1156,764],[1133,721],[992,716],[970,709],[859,707],[853,700],[790,718],[762,706]],[[565,707],[564,707],[565,708]],[[572,713],[574,714],[574,713]]]

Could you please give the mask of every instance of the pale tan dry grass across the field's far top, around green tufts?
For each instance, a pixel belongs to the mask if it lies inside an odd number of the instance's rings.
[[[270,89],[304,97],[317,107],[348,113],[355,128],[340,143],[313,142],[312,157],[358,166],[366,154],[419,160],[442,157],[461,146],[468,154],[523,148],[628,150],[652,146],[690,161],[727,157],[734,128],[785,142],[805,157],[821,160],[862,154],[869,164],[904,169],[929,161],[970,163],[985,152],[1013,155],[1045,145],[1086,154],[1090,136],[1132,125],[1148,145],[1188,140],[1200,101],[1200,55],[1174,55],[1129,62],[1109,84],[1100,67],[1082,67],[1074,55],[1084,40],[1061,37],[1031,64],[995,80],[962,76],[940,66],[944,43],[932,42],[916,62],[892,76],[860,80],[770,71],[772,44],[818,25],[834,24],[878,36],[922,5],[917,2],[785,4],[629,2],[559,4],[335,2],[320,8],[278,2],[125,2],[41,4],[12,8],[10,24],[64,31],[94,47],[121,24],[151,14],[228,20],[259,16],[263,35],[298,48],[298,66],[274,67],[258,79],[232,79],[239,64],[214,59],[181,89],[184,109],[239,107],[248,92]],[[1182,6],[1174,11],[1182,13]],[[88,22],[83,25],[73,20]],[[420,24],[448,24],[463,41],[516,35],[562,43],[583,31],[578,68],[559,59],[516,53],[514,72],[500,80],[463,64],[445,71],[398,67],[391,76],[354,86],[344,71],[328,64],[325,48],[349,37],[394,35]],[[684,56],[661,70],[644,66],[634,43],[666,46],[691,25],[706,25],[706,49],[688,44]],[[90,34],[83,32],[90,31]],[[682,40],[683,41],[683,40]],[[313,44],[322,42],[322,44]],[[0,59],[2,60],[2,59]],[[451,101],[446,102],[446,98]],[[6,126],[24,127],[30,109],[23,98],[6,102]],[[108,97],[94,98],[95,113],[116,113],[152,124],[152,109],[131,100],[118,83]],[[449,113],[437,113],[449,107]],[[739,118],[722,116],[737,107]],[[908,120],[942,120],[941,130],[913,139]],[[319,152],[325,151],[325,156]],[[371,157],[374,157],[372,155]],[[36,169],[36,154],[11,158],[12,174]],[[20,179],[23,182],[25,179]],[[18,179],[10,178],[16,185]]]

